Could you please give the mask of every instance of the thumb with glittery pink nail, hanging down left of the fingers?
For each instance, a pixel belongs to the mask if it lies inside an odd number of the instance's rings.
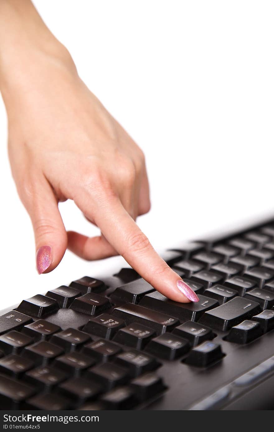
[[[32,220],[39,274],[48,273],[60,263],[67,248],[67,233],[52,187],[41,178],[34,191],[23,200]]]

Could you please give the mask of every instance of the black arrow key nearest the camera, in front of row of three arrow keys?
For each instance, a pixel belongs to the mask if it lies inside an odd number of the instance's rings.
[[[102,295],[84,294],[81,297],[75,299],[70,308],[74,311],[81,312],[82,314],[94,315],[105,311],[111,307],[110,301]]]

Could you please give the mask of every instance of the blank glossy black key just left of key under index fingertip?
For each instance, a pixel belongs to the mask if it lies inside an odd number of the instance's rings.
[[[152,291],[154,291],[153,286],[144,279],[137,279],[134,282],[116,288],[110,295],[110,298],[114,303],[125,302],[136,305],[145,294]]]

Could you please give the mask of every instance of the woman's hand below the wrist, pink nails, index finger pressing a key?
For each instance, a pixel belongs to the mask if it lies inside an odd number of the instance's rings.
[[[32,220],[39,273],[52,271],[67,247],[87,260],[120,254],[164,295],[197,301],[135,223],[150,208],[142,151],[81,81],[68,51],[31,48],[19,68],[3,70],[10,164]],[[58,210],[66,199],[100,236],[66,232]]]

